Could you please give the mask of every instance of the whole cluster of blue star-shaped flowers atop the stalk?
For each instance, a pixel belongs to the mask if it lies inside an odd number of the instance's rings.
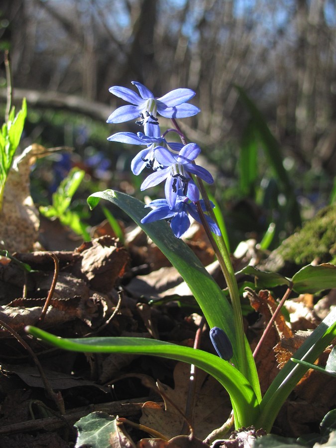
[[[131,170],[135,175],[144,169],[152,171],[142,183],[141,191],[165,181],[165,199],[156,199],[148,204],[146,207],[153,210],[141,223],[167,219],[175,236],[181,237],[190,226],[188,215],[201,222],[195,203],[199,202],[202,210],[206,211],[192,174],[209,184],[213,183],[214,179],[209,171],[195,163],[201,152],[200,147],[196,143],[184,145],[167,142],[165,135],[176,129],[169,129],[161,135],[157,115],[174,119],[196,115],[200,110],[188,103],[195,92],[191,89],[175,89],[163,97],[155,98],[142,84],[135,81],[132,81],[132,84],[136,86],[140,96],[125,87],[110,88],[113,95],[130,104],[117,108],[107,122],[121,123],[136,119],[135,123],[143,126],[144,132],[117,132],[108,140],[144,146],[133,158]],[[219,235],[217,224],[207,215],[205,218],[211,230]]]

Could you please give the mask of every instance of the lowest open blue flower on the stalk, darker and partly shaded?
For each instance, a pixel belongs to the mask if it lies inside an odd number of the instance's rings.
[[[181,193],[181,191],[179,191],[179,193]],[[206,206],[203,199],[201,199],[200,205],[202,210],[206,212]],[[189,202],[189,199],[186,197],[179,196],[173,208],[169,206],[167,199],[155,199],[145,207],[151,207],[153,210],[142,218],[142,224],[148,224],[158,220],[168,220],[174,235],[178,238],[181,238],[190,226],[188,215],[192,216],[194,220],[202,224],[196,205]],[[214,204],[212,204],[212,207],[215,207]],[[216,235],[220,235],[221,231],[218,225],[208,215],[204,216],[211,231],[216,233]]]

